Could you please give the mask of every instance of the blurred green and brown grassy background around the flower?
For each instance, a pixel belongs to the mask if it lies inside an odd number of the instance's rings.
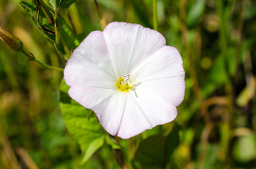
[[[19,2],[0,1],[0,25],[38,60],[64,68]],[[185,99],[174,122],[120,140],[127,161],[134,159],[141,140],[166,135],[178,124],[180,137],[173,140],[173,154],[162,168],[256,168],[256,1],[156,3],[158,32],[183,59]],[[106,23],[156,28],[153,0],[98,0],[98,4]],[[59,15],[79,41],[101,30],[92,0],[77,0],[60,9]],[[60,36],[64,44],[66,37],[62,32]],[[72,45],[64,45],[65,57]],[[59,108],[62,77],[62,72],[43,68],[0,42],[0,168],[121,168],[114,160],[116,150],[107,145],[80,164],[81,150],[66,130]]]

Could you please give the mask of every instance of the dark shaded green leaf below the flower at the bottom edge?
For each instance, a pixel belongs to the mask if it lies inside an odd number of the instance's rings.
[[[179,131],[174,124],[167,137],[156,134],[142,141],[133,159],[134,168],[165,168],[180,143]]]

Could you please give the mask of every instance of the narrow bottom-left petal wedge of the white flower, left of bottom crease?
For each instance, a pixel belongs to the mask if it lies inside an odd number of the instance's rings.
[[[127,94],[124,92],[115,92],[95,105],[92,110],[98,117],[103,128],[110,134],[116,135],[120,129],[120,123],[124,108],[127,104]]]

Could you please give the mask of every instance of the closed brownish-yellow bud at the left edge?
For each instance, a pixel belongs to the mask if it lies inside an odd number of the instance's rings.
[[[4,27],[0,26],[0,39],[14,51],[23,51],[23,43],[17,37],[13,37]]]

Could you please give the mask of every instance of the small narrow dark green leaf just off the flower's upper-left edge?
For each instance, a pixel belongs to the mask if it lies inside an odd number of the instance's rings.
[[[69,49],[74,50],[80,44],[80,42],[74,35],[71,27],[69,27],[69,25],[66,24],[64,18],[62,18],[60,15],[59,15],[59,33],[62,39],[64,39],[66,46],[69,47]]]

